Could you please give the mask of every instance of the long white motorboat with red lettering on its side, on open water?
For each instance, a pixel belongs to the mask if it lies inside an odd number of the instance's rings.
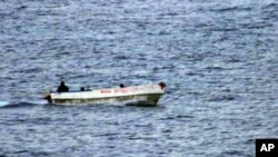
[[[166,85],[130,86],[68,92],[46,92],[43,98],[54,105],[95,105],[126,102],[127,105],[156,106],[165,94]]]

